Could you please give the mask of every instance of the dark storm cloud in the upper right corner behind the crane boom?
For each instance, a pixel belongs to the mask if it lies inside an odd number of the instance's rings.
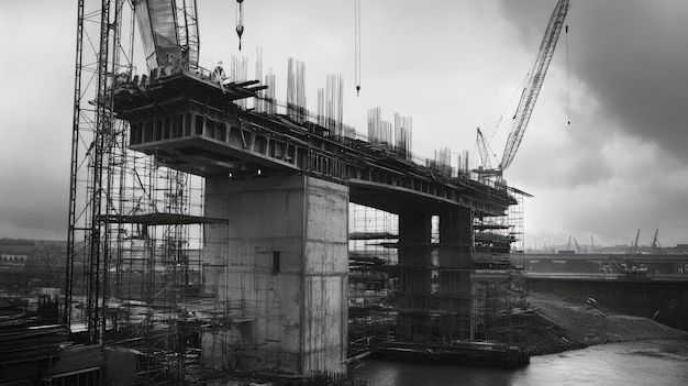
[[[502,1],[524,44],[542,38],[543,9],[553,1]],[[574,2],[569,10],[572,76],[585,84],[628,135],[656,142],[688,162],[688,2],[608,0]]]

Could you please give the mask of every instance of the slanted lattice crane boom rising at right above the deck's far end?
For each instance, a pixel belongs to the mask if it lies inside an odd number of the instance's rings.
[[[552,12],[552,18],[547,24],[545,36],[540,44],[540,51],[537,52],[535,64],[530,71],[528,84],[521,93],[521,101],[519,102],[519,107],[513,119],[511,132],[507,139],[504,153],[502,154],[501,164],[499,165],[499,168],[502,172],[511,165],[511,162],[521,145],[523,133],[525,132],[531,113],[533,112],[533,108],[537,101],[537,95],[540,93],[542,84],[545,80],[545,75],[547,74],[550,62],[552,62],[552,55],[554,55],[554,48],[556,47],[556,43],[559,38],[562,26],[564,25],[564,20],[566,20],[569,7],[569,0],[558,0],[554,11]]]

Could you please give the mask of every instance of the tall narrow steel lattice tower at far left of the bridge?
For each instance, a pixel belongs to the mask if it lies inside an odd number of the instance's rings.
[[[102,0],[99,9],[87,11],[86,2],[80,0],[77,9],[64,323],[70,326],[75,321],[74,295],[85,296],[88,343],[102,339],[102,276],[107,275],[102,267],[109,251],[103,247],[108,244],[107,232],[103,232],[108,223],[101,214],[112,205],[107,199],[110,176],[103,175],[103,169],[111,162],[110,155],[119,143],[116,137],[122,133],[116,130],[112,108],[108,106],[112,101],[108,92],[115,74],[122,73],[122,68],[130,71],[132,68],[131,64],[120,64],[123,5],[123,0]],[[97,45],[87,23],[98,26]],[[86,42],[92,52],[85,47]]]

